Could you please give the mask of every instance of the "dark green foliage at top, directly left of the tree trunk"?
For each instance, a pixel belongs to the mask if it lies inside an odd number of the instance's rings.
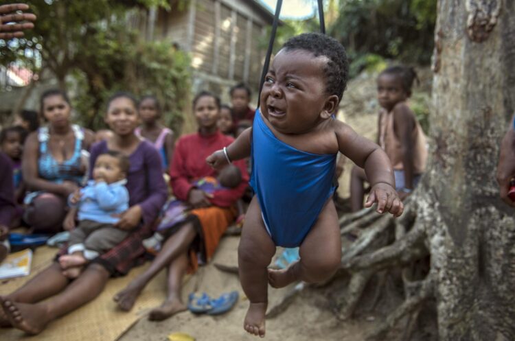
[[[341,0],[330,34],[352,58],[376,54],[429,64],[437,0]]]

